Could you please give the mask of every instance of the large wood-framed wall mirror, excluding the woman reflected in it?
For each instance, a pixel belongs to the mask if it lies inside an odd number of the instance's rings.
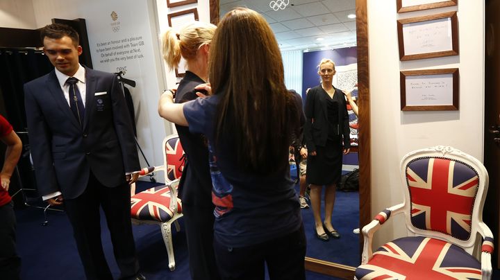
[[[307,87],[319,85],[315,66],[323,57],[336,62],[338,73],[339,69],[345,72],[347,78],[340,89],[356,89],[353,86],[354,83],[357,85],[360,114],[358,147],[354,149],[357,153],[353,155],[357,157],[355,165],[360,170],[359,191],[337,195],[333,225],[340,231],[341,238],[331,238],[328,242],[317,239],[313,233],[312,209],[302,210],[308,240],[306,269],[353,279],[363,250],[363,236],[353,232],[353,229],[367,225],[372,218],[367,0],[210,0],[210,21],[216,24],[219,16],[238,6],[256,10],[267,19],[284,53],[284,60],[287,52],[299,53],[303,75],[293,89],[298,89],[301,95],[305,96]],[[356,74],[348,77],[352,71],[357,71],[357,77]],[[312,82],[310,77],[314,77]],[[345,161],[344,158],[344,164]]]

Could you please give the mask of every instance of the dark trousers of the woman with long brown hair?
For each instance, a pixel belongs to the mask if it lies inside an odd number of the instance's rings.
[[[214,248],[219,273],[224,280],[265,279],[265,263],[271,280],[306,279],[306,236],[303,225],[291,234],[257,245],[226,247],[214,240]]]

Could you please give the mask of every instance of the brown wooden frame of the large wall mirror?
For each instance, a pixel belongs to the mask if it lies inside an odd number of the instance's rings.
[[[219,22],[219,0],[209,0],[210,22],[217,25]],[[369,46],[368,46],[368,12],[367,0],[356,0],[356,41],[358,50],[358,103],[360,120],[358,134],[359,170],[360,170],[360,229],[372,221],[372,192],[371,192],[371,162],[370,153],[370,107],[369,107]],[[360,259],[363,252],[363,234],[360,233]],[[306,256],[306,270],[328,274],[344,279],[353,279],[356,268],[340,263],[331,263]]]

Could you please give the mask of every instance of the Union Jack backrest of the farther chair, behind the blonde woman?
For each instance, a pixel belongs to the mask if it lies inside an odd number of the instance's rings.
[[[177,134],[172,134],[163,140],[165,149],[163,165],[165,166],[165,182],[181,179],[184,170],[184,150]],[[207,159],[208,160],[208,159]]]

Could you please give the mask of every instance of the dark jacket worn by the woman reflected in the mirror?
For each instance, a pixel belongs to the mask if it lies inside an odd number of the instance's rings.
[[[328,94],[321,85],[309,90],[306,98],[306,125],[304,127],[304,137],[308,152],[314,152],[316,146],[325,146],[328,139],[328,109],[326,107]],[[347,103],[344,93],[340,89],[335,89],[333,98],[338,103],[339,134],[344,141],[344,149],[351,148],[349,137],[349,115],[347,114]]]

